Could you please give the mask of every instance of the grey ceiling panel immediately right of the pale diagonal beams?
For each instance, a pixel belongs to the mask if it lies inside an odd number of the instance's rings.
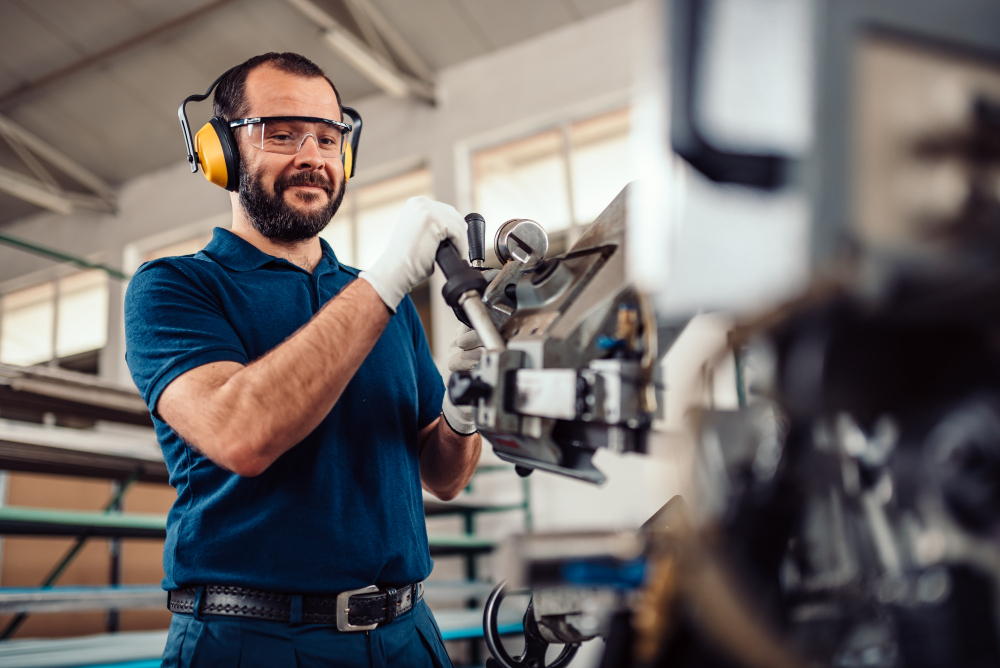
[[[480,56],[492,48],[485,33],[451,0],[372,0],[431,69]]]

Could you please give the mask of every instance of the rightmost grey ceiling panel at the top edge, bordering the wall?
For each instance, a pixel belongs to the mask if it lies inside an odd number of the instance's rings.
[[[455,0],[494,47],[510,46],[578,19],[562,0]]]

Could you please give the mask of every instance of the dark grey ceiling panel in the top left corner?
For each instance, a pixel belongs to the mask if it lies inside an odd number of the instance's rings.
[[[3,20],[0,20],[0,62],[21,81],[48,74],[76,61],[81,55],[20,5],[4,5]]]

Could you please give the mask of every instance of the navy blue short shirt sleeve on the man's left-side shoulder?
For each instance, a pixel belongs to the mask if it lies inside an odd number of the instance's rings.
[[[220,302],[176,260],[143,265],[125,293],[125,361],[150,412],[181,374],[210,362],[246,364]]]

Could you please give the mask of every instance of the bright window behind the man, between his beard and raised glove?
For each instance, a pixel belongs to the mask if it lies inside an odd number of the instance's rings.
[[[392,228],[406,200],[419,195],[434,196],[431,173],[425,168],[351,187],[344,195],[340,211],[320,236],[330,244],[338,260],[367,269],[389,244]],[[432,341],[429,283],[425,281],[414,288],[410,298],[420,313],[427,340]]]

